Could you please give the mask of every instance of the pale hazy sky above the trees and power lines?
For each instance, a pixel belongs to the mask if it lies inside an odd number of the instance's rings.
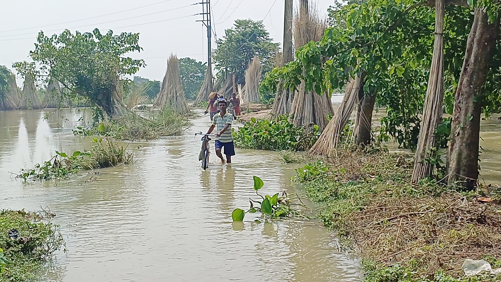
[[[324,15],[333,3],[333,0],[310,1],[316,2]],[[12,69],[12,63],[28,60],[27,56],[34,49],[33,44],[40,30],[46,35],[52,35],[61,33],[65,28],[72,32],[89,32],[99,28],[102,33],[111,29],[114,33],[140,33],[139,45],[144,51],[134,53],[132,57],[144,59],[147,66],[136,75],[161,80],[165,73],[166,59],[171,53],[177,54],[178,58],[191,57],[207,61],[205,27],[202,28],[200,22],[195,22],[201,20],[202,16],[190,16],[202,12],[201,5],[192,5],[199,2],[202,1],[2,1],[0,65]],[[299,0],[294,2],[296,7]],[[282,43],[284,0],[211,0],[211,3],[218,38],[224,35],[224,30],[230,28],[236,19],[264,19],[270,36],[275,42]],[[124,10],[131,11],[117,13]],[[112,13],[113,15],[107,15]],[[215,47],[214,43],[212,47]]]

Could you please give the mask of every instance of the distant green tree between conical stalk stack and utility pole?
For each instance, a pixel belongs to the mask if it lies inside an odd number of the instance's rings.
[[[179,59],[179,77],[183,85],[186,99],[196,99],[205,78],[207,63],[198,62],[191,58]]]

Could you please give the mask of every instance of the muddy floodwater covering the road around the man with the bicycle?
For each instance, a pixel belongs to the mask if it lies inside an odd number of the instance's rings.
[[[231,211],[263,193],[297,192],[294,167],[279,154],[237,150],[232,165],[198,162],[209,119],[194,120],[183,136],[129,145],[131,166],[59,182],[23,184],[9,172],[49,160],[55,151],[89,150],[72,128],[90,113],[65,109],[0,112],[0,208],[57,214],[68,252],[44,281],[361,281],[359,263],[338,252],[331,233],[312,222],[232,224]],[[83,118],[85,117],[85,118]],[[213,150],[213,144],[211,144]]]

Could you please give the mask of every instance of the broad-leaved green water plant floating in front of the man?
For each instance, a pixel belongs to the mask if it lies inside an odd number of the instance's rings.
[[[301,197],[296,193],[287,194],[286,192],[282,192],[282,196],[280,193],[277,193],[273,196],[262,196],[258,193],[258,190],[263,188],[264,183],[261,178],[255,176],[254,177],[254,190],[256,191],[256,195],[262,198],[261,201],[255,201],[253,199],[249,199],[250,208],[247,211],[242,209],[235,209],[231,213],[231,218],[233,221],[243,221],[246,213],[257,213],[261,212],[266,219],[306,219],[308,217],[303,214],[300,210],[294,208],[294,206],[301,206],[304,208],[308,208],[305,204],[301,202]],[[294,203],[294,200],[299,200],[300,203]],[[258,206],[255,207],[254,204]]]

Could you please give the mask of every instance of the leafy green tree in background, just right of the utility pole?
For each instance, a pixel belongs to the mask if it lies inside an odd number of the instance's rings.
[[[236,74],[236,83],[245,83],[245,70],[258,55],[263,71],[271,70],[279,44],[273,43],[263,21],[236,20],[233,28],[225,30],[217,40],[213,53],[215,68],[219,73]]]

